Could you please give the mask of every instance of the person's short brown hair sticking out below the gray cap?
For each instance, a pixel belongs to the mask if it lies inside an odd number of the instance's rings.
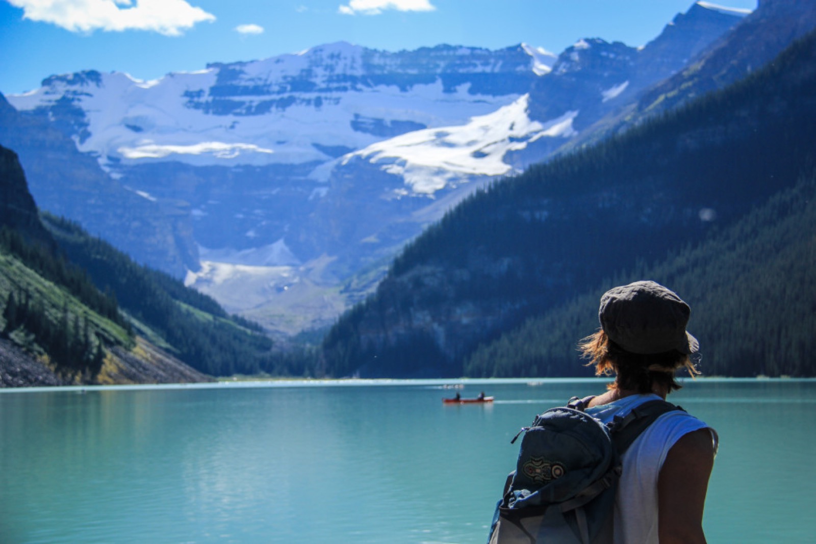
[[[685,353],[676,350],[649,355],[627,352],[610,340],[602,329],[583,338],[578,347],[583,358],[589,360],[587,366],[595,365],[596,376],[615,374],[610,389],[650,393],[657,384],[672,392],[682,387],[675,378],[676,370],[685,368],[692,378],[700,374]]]

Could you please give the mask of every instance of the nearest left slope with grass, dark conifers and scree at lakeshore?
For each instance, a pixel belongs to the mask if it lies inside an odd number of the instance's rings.
[[[88,305],[103,295],[87,294],[93,286],[60,258],[16,153],[2,147],[0,228],[0,387],[211,380]],[[72,347],[79,343],[88,347]]]

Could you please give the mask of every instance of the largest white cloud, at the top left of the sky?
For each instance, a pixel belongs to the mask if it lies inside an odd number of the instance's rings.
[[[8,0],[24,19],[55,24],[71,32],[148,30],[179,36],[215,15],[185,0]]]

